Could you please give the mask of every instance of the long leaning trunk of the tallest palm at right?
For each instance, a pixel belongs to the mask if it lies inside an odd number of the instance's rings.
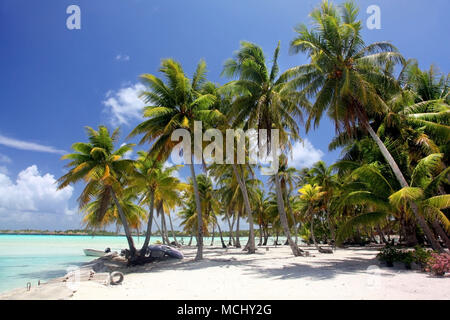
[[[366,130],[369,132],[372,139],[377,144],[378,148],[380,149],[381,153],[383,154],[383,157],[388,162],[389,166],[391,167],[392,171],[394,172],[395,177],[397,178],[398,182],[404,187],[408,187],[408,182],[406,182],[405,177],[403,176],[402,172],[400,171],[400,168],[398,167],[397,163],[395,162],[392,155],[389,153],[389,150],[384,145],[383,141],[381,141],[380,137],[373,131],[372,127],[367,121],[362,122]],[[410,202],[411,209],[414,213],[414,217],[416,218],[419,226],[422,228],[423,232],[425,233],[425,236],[427,237],[428,241],[431,243],[431,246],[433,249],[442,251],[441,245],[436,240],[436,238],[433,235],[433,232],[431,231],[430,227],[428,226],[427,222],[425,221],[424,217],[419,213],[419,209],[417,208],[417,205]]]

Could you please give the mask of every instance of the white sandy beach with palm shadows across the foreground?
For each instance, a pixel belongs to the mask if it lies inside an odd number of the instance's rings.
[[[309,257],[293,257],[286,246],[259,248],[255,255],[205,248],[205,259],[196,262],[195,248],[184,248],[184,260],[135,268],[99,259],[81,269],[80,281],[68,275],[0,299],[450,299],[449,276],[384,267],[376,248],[303,249]],[[108,284],[111,270],[125,273],[121,285]]]

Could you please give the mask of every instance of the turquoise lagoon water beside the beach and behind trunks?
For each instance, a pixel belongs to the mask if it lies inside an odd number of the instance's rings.
[[[181,237],[177,237],[181,241]],[[136,246],[142,244],[144,238],[135,237]],[[152,237],[151,242],[161,240]],[[189,243],[189,237],[183,238],[184,244]],[[246,238],[241,238],[246,243]],[[195,244],[195,238],[192,241]],[[211,244],[211,238],[204,239],[205,246]],[[215,245],[220,245],[220,238],[214,239]],[[37,282],[61,277],[67,269],[80,266],[93,257],[87,257],[83,249],[104,250],[111,248],[119,251],[127,248],[123,236],[50,236],[50,235],[0,235],[0,292],[26,287],[27,282],[36,286]]]

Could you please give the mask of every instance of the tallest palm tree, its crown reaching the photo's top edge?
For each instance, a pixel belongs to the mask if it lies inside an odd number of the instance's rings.
[[[337,131],[344,129],[351,134],[359,123],[376,142],[401,187],[408,187],[403,173],[369,121],[370,117],[387,110],[377,89],[399,89],[395,79],[381,72],[381,68],[394,62],[403,63],[404,59],[390,43],[366,46],[355,4],[345,2],[341,9],[339,13],[324,0],[321,7],[310,14],[313,28],[298,26],[298,36],[291,42],[292,52],[305,52],[311,60],[309,64],[287,71],[294,78],[292,86],[300,88],[305,98],[315,97],[313,104],[304,101],[309,113],[306,129],[310,129],[311,123],[317,127],[324,112],[335,122]],[[417,207],[414,203],[411,205],[433,248],[439,249],[439,243]]]

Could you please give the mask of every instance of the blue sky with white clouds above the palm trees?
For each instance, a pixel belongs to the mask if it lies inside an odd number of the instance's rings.
[[[80,226],[76,198],[63,192],[61,153],[85,140],[83,127],[120,125],[125,136],[138,122],[138,76],[156,73],[162,58],[180,61],[188,74],[203,58],[209,80],[240,40],[262,46],[270,59],[281,41],[280,68],[304,63],[289,55],[293,27],[309,21],[319,1],[294,0],[2,0],[0,2],[0,229],[66,229]],[[381,9],[381,29],[364,28],[366,42],[392,41],[422,68],[449,70],[448,0],[356,1]],[[81,30],[66,28],[66,8],[81,8]],[[297,166],[328,163],[333,126],[323,120],[308,135]],[[300,152],[304,151],[304,152]],[[187,172],[182,171],[182,176]]]

